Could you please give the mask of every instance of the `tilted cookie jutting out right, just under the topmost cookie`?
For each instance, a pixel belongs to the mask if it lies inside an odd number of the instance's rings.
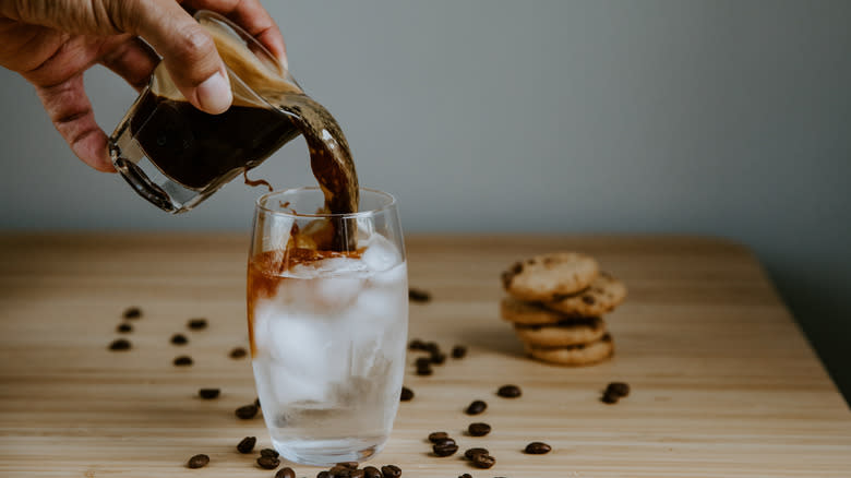
[[[570,316],[599,316],[611,311],[626,298],[626,286],[607,273],[601,273],[578,294],[555,296],[543,306]]]

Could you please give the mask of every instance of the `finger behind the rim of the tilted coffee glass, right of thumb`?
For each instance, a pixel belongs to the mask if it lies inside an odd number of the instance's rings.
[[[193,9],[207,9],[220,13],[256,38],[286,68],[287,47],[275,21],[260,0],[185,0]]]

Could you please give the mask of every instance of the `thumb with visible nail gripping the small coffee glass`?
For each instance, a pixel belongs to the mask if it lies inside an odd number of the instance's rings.
[[[196,108],[217,115],[230,107],[225,63],[209,34],[175,0],[118,1],[115,12],[129,31],[161,56],[175,86]]]

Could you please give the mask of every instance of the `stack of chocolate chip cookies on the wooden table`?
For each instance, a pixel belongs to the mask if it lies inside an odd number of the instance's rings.
[[[503,272],[508,297],[502,318],[534,358],[562,366],[585,366],[614,354],[602,315],[624,298],[626,287],[600,272],[597,261],[578,252],[536,255]]]

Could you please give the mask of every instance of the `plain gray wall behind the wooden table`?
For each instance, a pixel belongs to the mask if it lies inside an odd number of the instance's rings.
[[[408,231],[686,232],[751,246],[851,396],[851,2],[267,1],[290,68]],[[87,74],[111,131],[134,97]],[[0,70],[4,229],[248,230],[79,163]],[[312,183],[302,142],[254,176]]]

